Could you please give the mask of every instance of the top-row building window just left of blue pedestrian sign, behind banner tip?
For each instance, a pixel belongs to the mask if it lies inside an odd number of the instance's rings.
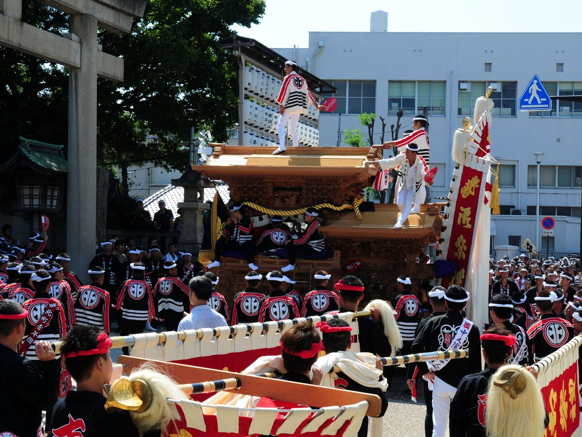
[[[491,85],[493,91],[491,100],[495,109],[491,115],[497,117],[515,117],[516,114],[516,85],[517,82],[459,82],[459,104],[457,115],[473,115],[475,101],[485,96]]]

